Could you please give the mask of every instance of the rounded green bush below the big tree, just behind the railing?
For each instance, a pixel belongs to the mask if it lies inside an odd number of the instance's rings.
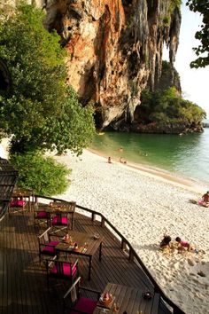
[[[66,191],[69,184],[66,176],[71,170],[52,157],[43,157],[40,152],[15,153],[10,161],[19,171],[19,187],[32,188],[36,194],[47,196]]]

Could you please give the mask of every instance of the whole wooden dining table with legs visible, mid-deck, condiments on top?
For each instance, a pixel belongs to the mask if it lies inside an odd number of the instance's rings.
[[[67,238],[60,240],[55,247],[57,255],[66,253],[69,255],[78,255],[89,258],[89,280],[91,277],[92,259],[99,248],[99,261],[102,261],[102,245],[104,237],[99,234],[70,231]]]

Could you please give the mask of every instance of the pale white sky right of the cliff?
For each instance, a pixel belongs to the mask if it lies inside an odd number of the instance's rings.
[[[197,59],[192,48],[197,47],[199,43],[195,39],[195,33],[200,28],[202,18],[198,13],[190,12],[185,3],[186,1],[183,0],[182,26],[174,67],[181,78],[182,97],[201,106],[209,119],[209,66],[198,69],[190,68],[190,61]],[[167,53],[165,53],[166,57]]]

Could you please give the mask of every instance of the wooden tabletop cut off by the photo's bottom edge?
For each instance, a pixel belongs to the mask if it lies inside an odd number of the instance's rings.
[[[108,295],[108,300],[104,300]],[[93,314],[157,314],[159,313],[159,294],[150,290],[107,283],[97,302]]]

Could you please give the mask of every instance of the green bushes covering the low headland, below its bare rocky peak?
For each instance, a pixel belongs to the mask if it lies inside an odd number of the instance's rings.
[[[153,130],[172,129],[179,131],[201,130],[205,111],[183,99],[174,87],[166,90],[143,90],[141,105],[138,107],[138,120],[144,126],[151,123]],[[146,128],[146,127],[145,127]],[[150,128],[149,128],[150,129]],[[167,133],[172,132],[167,130]]]

